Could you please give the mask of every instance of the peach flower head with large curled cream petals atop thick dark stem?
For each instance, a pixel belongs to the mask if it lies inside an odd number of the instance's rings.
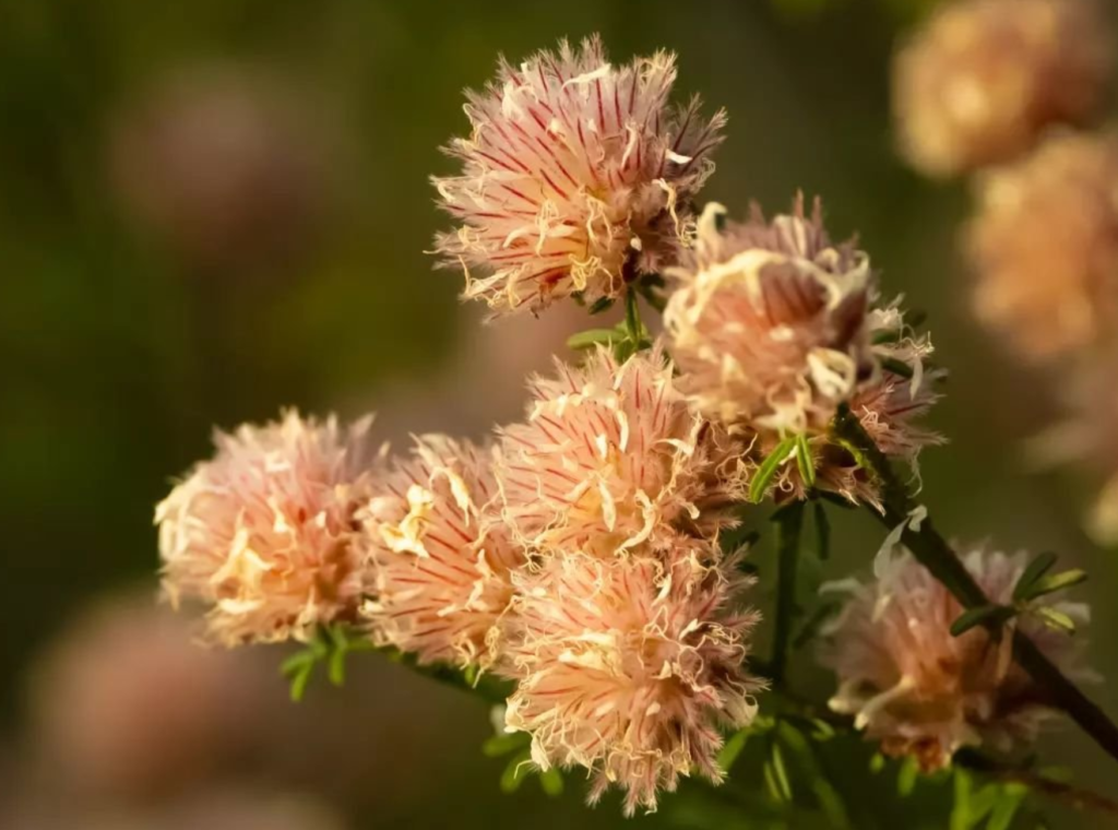
[[[694,254],[669,272],[678,386],[748,445],[752,470],[784,454],[766,484],[777,498],[803,499],[814,487],[878,503],[877,484],[833,443],[831,424],[849,406],[882,452],[915,468],[919,451],[941,441],[915,423],[944,376],[925,368],[930,339],[906,323],[899,301],[877,305],[868,256],[831,242],[818,200],[811,218],[800,197],[771,223],[755,206],[748,223],[719,229],[723,213],[707,207]],[[789,451],[793,436],[803,442]]]

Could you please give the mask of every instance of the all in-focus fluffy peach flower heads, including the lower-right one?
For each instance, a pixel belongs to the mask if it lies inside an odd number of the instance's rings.
[[[879,455],[840,427],[856,421],[913,473],[941,441],[918,423],[944,375],[929,338],[882,301],[869,256],[832,240],[818,201],[689,218],[723,117],[670,111],[674,77],[664,54],[615,69],[591,39],[502,63],[470,95],[474,134],[452,148],[465,172],[436,179],[462,221],[440,253],[487,272],[466,294],[499,312],[626,300],[580,361],[530,380],[519,423],[391,455],[369,419],[290,413],[219,434],[157,511],[165,592],[206,607],[212,640],[344,625],[345,643],[487,672],[511,689],[501,727],[528,735],[531,762],[585,767],[591,801],[616,784],[628,814],[692,773],[720,782],[724,732],[757,714],[754,579],[728,543],[740,504],[827,493],[880,509]],[[664,300],[663,337],[641,323],[642,294]],[[1007,602],[1023,562],[967,566]],[[880,576],[828,632],[835,708],[929,770],[965,744],[1031,738],[1045,709],[1008,639],[953,638],[959,606],[910,558]],[[1065,639],[1014,625],[1078,667]]]

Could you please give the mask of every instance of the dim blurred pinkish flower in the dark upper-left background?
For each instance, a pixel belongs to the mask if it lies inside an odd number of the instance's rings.
[[[121,105],[112,186],[130,220],[198,273],[290,268],[332,207],[335,136],[264,67],[196,64]]]

